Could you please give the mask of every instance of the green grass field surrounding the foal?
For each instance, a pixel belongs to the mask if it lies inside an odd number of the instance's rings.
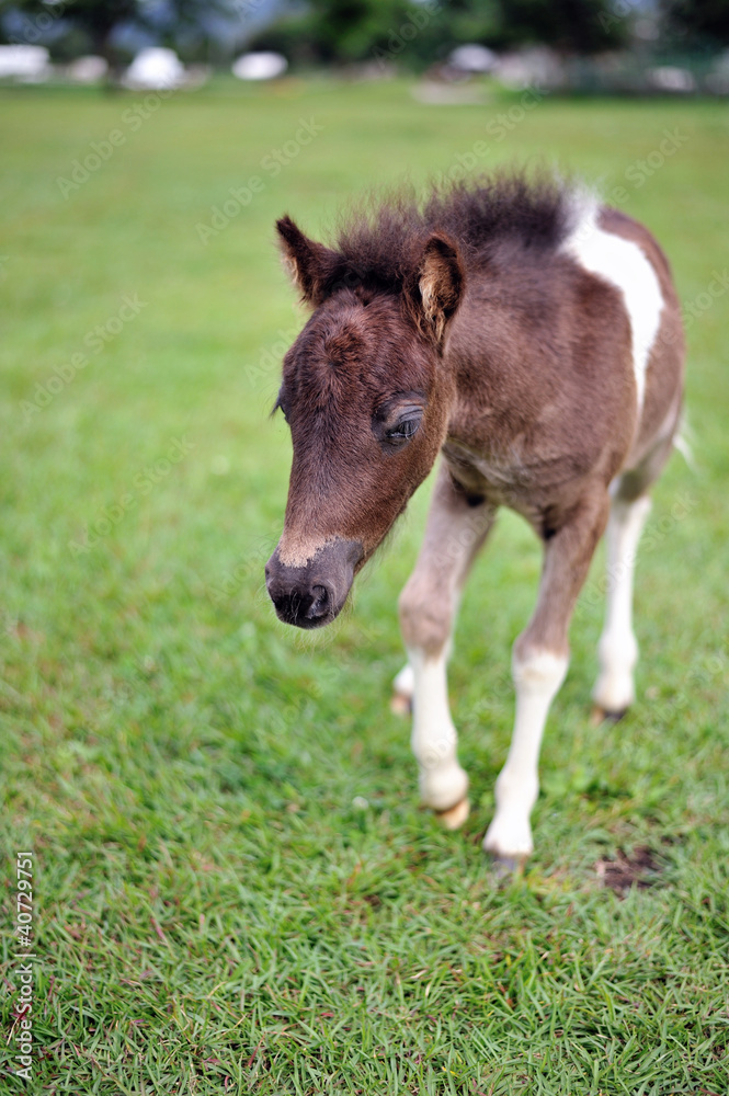
[[[5,90],[0,147],[2,1091],[725,1096],[726,105]],[[676,456],[654,493],[639,701],[590,728],[601,557],[508,883],[480,840],[532,534],[502,516],[464,604],[455,835],[419,809],[388,710],[428,487],[331,630],[278,625],[262,575],[289,463],[266,415],[301,322],[272,222],[323,231],[349,195],[469,157],[597,181],[661,239],[691,316],[696,468]],[[30,1083],[9,1075],[25,849]],[[603,884],[641,860],[646,886]]]

